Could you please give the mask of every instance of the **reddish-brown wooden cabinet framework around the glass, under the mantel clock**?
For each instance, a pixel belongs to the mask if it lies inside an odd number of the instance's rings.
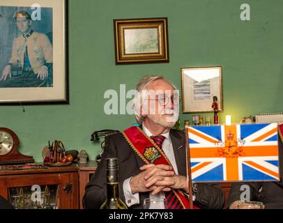
[[[47,169],[1,170],[0,194],[12,201],[11,192],[28,189],[33,185],[55,190],[56,207],[60,209],[79,208],[79,177],[77,165],[69,167],[48,167]],[[14,195],[15,196],[15,195]],[[29,194],[31,196],[31,193]]]

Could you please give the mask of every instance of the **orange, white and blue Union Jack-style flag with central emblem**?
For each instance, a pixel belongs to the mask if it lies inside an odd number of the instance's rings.
[[[187,128],[192,180],[279,180],[277,123]]]

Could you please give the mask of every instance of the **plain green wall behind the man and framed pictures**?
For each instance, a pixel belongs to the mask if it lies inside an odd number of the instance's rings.
[[[251,21],[240,20],[249,3]],[[130,126],[133,116],[107,116],[107,89],[134,89],[142,75],[161,74],[181,87],[181,67],[222,66],[224,112],[232,122],[259,112],[283,112],[283,1],[70,0],[70,105],[1,106],[0,126],[14,130],[20,151],[41,161],[48,140],[86,149],[93,130]],[[115,66],[113,19],[168,17],[169,63]],[[212,114],[211,114],[212,116]],[[191,114],[181,114],[181,123]]]

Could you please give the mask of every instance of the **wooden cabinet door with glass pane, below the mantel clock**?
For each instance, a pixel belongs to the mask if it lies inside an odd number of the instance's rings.
[[[78,172],[0,175],[0,194],[18,209],[77,209]]]

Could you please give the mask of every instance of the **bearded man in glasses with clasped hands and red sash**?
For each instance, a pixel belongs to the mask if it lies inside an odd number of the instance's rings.
[[[189,208],[185,134],[171,129],[178,119],[178,91],[161,76],[145,76],[137,92],[134,107],[140,125],[107,137],[102,160],[86,186],[84,208],[99,208],[106,199],[107,157],[118,157],[120,197],[129,208],[143,208],[148,197],[167,199],[167,207],[158,208]],[[192,199],[194,208],[224,204],[215,184],[195,184]]]

